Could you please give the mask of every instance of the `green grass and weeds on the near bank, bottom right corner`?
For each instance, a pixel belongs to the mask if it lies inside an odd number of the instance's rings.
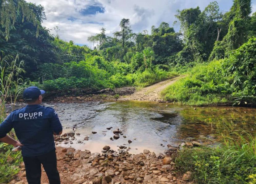
[[[188,148],[176,158],[178,172],[191,172],[197,183],[255,183],[256,137],[235,131],[215,147]]]

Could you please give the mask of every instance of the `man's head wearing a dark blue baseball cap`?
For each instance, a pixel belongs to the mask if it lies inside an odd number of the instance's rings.
[[[28,104],[41,104],[42,94],[45,94],[44,90],[39,90],[36,86],[31,86],[24,90],[23,98]]]

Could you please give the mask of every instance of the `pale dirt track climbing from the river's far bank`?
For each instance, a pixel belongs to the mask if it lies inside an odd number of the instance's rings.
[[[134,94],[122,96],[118,100],[162,101],[160,92],[183,77],[185,77],[185,75],[158,82],[151,86],[142,88]]]

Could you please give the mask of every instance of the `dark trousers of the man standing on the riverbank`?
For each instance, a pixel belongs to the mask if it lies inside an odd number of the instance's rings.
[[[36,157],[23,157],[28,184],[41,183],[41,164],[48,176],[50,184],[60,184],[55,149]]]

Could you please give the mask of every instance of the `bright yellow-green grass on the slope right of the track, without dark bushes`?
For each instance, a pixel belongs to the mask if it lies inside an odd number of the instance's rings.
[[[218,105],[226,104],[230,90],[223,85],[222,61],[196,65],[188,75],[161,92],[166,101],[181,105]],[[225,90],[225,91],[224,91]],[[228,90],[228,91],[227,91]]]

